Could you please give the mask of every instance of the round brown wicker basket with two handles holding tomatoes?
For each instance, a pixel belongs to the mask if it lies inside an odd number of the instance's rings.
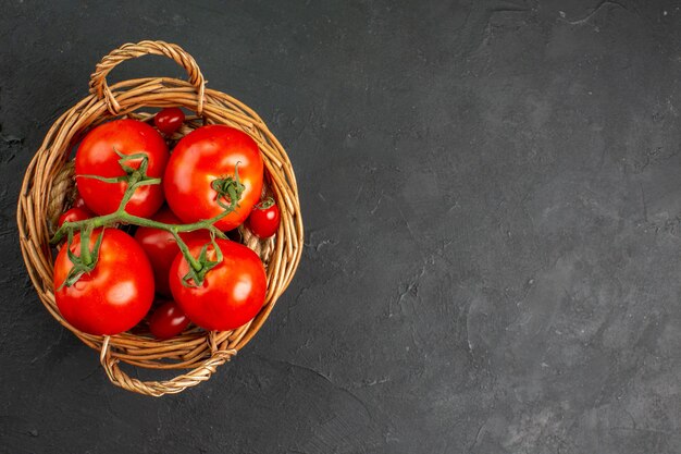
[[[146,54],[165,56],[189,75],[184,82],[148,77],[107,85],[106,76],[125,60]],[[100,361],[116,385],[140,394],[160,396],[178,393],[208,380],[258,332],[277,297],[290,282],[302,250],[302,221],[293,168],[278,140],[262,120],[236,99],[205,87],[203,75],[194,59],[178,46],[163,41],[126,44],[113,50],[97,65],[90,77],[90,95],[54,122],[30,161],[18,200],[20,243],[28,274],[40,300],[50,314],[86,345],[100,352]],[[234,331],[206,332],[196,327],[168,341],[135,331],[112,336],[81,332],[60,315],[52,287],[52,250],[49,245],[55,218],[73,200],[73,165],[69,162],[74,145],[92,126],[113,118],[150,121],[152,113],[141,108],[179,106],[196,112],[173,136],[179,138],[202,124],[226,124],[250,135],[259,145],[265,164],[268,191],[282,211],[275,237],[267,242],[242,228],[243,242],[262,258],[268,274],[265,303],[258,316]],[[141,381],[126,375],[119,363],[148,369],[191,369],[170,380]]]

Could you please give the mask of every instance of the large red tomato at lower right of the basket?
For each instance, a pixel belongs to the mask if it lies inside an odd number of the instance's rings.
[[[183,278],[189,265],[177,254],[170,271],[173,297],[189,320],[207,330],[226,331],[251,320],[264,303],[267,277],[260,257],[248,247],[228,240],[215,240],[222,261],[206,273],[201,286],[185,286]],[[198,257],[203,242],[187,246]],[[208,257],[215,260],[215,249],[208,246]],[[190,284],[193,281],[190,281]]]

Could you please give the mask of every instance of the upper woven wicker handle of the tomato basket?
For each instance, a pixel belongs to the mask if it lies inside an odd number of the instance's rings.
[[[189,83],[196,87],[196,90],[199,94],[198,107],[196,111],[199,115],[201,115],[201,112],[203,111],[206,85],[203,74],[201,74],[201,70],[199,70],[199,66],[196,64],[194,58],[183,48],[165,41],[145,40],[137,44],[128,42],[109,52],[107,57],[97,63],[95,72],[90,75],[90,93],[97,95],[99,99],[104,99],[107,101],[109,112],[114,115],[117,114],[121,106],[111,93],[109,85],[107,85],[107,75],[111,72],[111,70],[120,63],[123,63],[125,60],[132,60],[148,54],[165,56],[187,71],[187,74],[189,75]]]

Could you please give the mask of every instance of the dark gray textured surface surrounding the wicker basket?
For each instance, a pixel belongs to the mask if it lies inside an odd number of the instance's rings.
[[[678,2],[101,3],[2,4],[1,452],[681,451]],[[14,218],[50,124],[145,38],[262,115],[307,230],[256,339],[160,400],[44,309]]]

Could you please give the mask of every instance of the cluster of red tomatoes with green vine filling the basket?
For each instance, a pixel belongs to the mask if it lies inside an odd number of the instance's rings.
[[[178,108],[161,110],[156,128],[114,120],[76,150],[78,197],[59,219],[54,241],[67,243],[53,278],[60,312],[81,331],[112,335],[147,315],[158,339],[190,322],[232,330],[264,303],[260,257],[224,235],[245,222],[261,238],[278,229],[278,207],[261,200],[262,155],[225,125],[198,127],[171,150],[184,121]]]

